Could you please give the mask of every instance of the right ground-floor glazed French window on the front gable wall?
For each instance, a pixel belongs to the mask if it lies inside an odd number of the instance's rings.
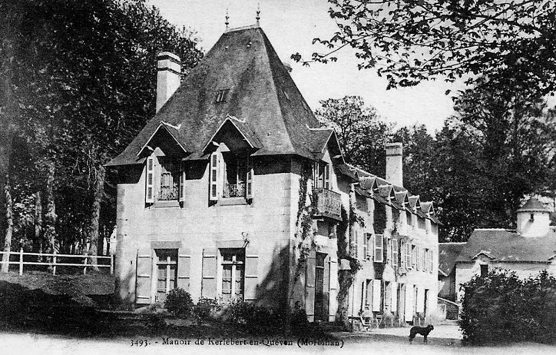
[[[245,249],[220,249],[222,263],[222,302],[243,301]]]

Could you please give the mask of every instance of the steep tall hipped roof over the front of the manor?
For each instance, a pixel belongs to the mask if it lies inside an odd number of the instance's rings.
[[[229,90],[216,103],[219,90]],[[167,103],[108,165],[135,164],[161,121],[179,127],[175,136],[190,153],[202,158],[202,149],[228,115],[245,122],[261,147],[253,155],[298,154],[316,158],[331,131],[320,131],[302,94],[258,26],[224,33],[199,65],[181,82]]]

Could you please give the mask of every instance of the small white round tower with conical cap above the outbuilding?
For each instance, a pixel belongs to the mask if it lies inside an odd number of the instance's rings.
[[[550,210],[531,197],[517,210],[517,233],[525,238],[541,237],[550,229]]]

